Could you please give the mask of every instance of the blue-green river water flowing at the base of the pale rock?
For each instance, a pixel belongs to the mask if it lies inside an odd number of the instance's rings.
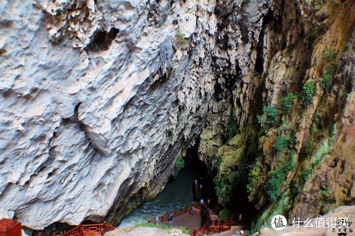
[[[126,215],[117,227],[124,228],[140,222],[153,220],[155,215],[162,216],[185,208],[193,202],[190,172],[187,163],[176,179],[167,183],[163,192],[151,201],[143,203]]]

